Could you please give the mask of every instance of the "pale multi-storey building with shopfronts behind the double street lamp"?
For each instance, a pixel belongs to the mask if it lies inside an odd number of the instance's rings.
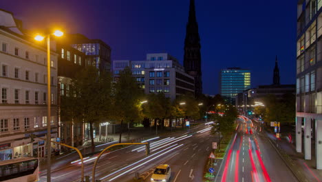
[[[0,161],[45,156],[45,142],[32,142],[30,134],[47,134],[46,55],[45,46],[19,30],[11,12],[0,10]],[[52,51],[52,140],[57,137],[57,57]]]

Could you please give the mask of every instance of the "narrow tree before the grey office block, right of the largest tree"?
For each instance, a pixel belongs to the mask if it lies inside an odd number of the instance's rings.
[[[140,98],[143,92],[138,87],[135,78],[132,77],[132,72],[129,67],[120,72],[120,79],[116,82],[114,90],[114,119],[120,121],[120,139],[122,142],[123,123],[129,123],[142,119]]]

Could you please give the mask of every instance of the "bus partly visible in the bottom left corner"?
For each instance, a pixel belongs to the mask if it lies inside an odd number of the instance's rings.
[[[0,181],[34,182],[39,181],[39,161],[34,157],[24,157],[0,161]]]

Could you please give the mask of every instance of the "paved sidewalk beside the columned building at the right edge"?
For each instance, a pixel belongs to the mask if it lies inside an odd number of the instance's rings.
[[[299,181],[322,181],[322,170],[315,169],[314,153],[312,160],[305,160],[304,155],[296,151],[295,146],[286,139],[286,136],[277,139],[275,134],[267,131],[266,136]]]

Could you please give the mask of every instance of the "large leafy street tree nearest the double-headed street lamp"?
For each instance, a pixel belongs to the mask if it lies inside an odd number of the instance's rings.
[[[89,123],[94,152],[94,123],[109,117],[111,75],[92,66],[78,72],[69,85],[69,94],[61,99],[61,114],[73,122]]]

